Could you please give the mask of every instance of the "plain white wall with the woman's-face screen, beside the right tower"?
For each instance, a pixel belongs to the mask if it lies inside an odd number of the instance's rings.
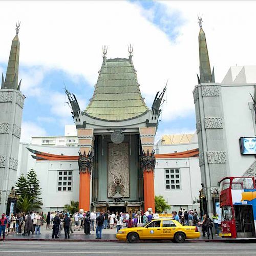
[[[254,84],[221,84],[225,118],[230,176],[242,176],[255,161],[254,155],[241,155],[239,138],[254,137],[254,117],[248,102],[252,102]]]

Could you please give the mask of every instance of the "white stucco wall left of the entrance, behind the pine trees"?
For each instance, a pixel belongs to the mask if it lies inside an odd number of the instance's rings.
[[[33,168],[37,174],[37,179],[40,182],[41,198],[44,205],[43,211],[61,210],[65,204],[70,204],[71,200],[78,201],[79,198],[79,172],[77,160],[74,161],[36,161],[31,157],[26,147],[33,150],[56,154],[56,155],[77,155],[77,147],[52,147],[46,145],[32,145],[27,143],[20,143],[19,157],[18,157],[18,172],[17,179],[21,174]],[[72,170],[73,183],[72,191],[58,191],[58,170]]]

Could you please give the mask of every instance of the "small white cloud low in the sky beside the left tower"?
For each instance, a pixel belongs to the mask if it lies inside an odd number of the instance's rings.
[[[22,122],[22,134],[20,135],[20,142],[31,142],[31,137],[46,135],[46,130],[34,122]]]

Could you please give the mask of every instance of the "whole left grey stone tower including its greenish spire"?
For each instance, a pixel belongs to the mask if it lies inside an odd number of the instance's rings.
[[[2,74],[0,90],[0,212],[6,212],[6,204],[12,186],[15,186],[18,165],[20,126],[25,96],[18,83],[19,24],[12,40],[6,71]]]

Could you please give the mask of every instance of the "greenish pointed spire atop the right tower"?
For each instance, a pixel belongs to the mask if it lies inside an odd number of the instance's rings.
[[[203,26],[203,16],[199,15],[199,36],[198,36],[198,42],[199,42],[199,61],[200,61],[200,81],[202,82],[212,82],[212,79],[214,78],[214,73],[211,74],[211,69],[210,69],[210,60],[209,60],[209,55],[208,55],[208,49],[207,49],[207,44],[206,44],[206,37],[205,33],[202,29]]]

